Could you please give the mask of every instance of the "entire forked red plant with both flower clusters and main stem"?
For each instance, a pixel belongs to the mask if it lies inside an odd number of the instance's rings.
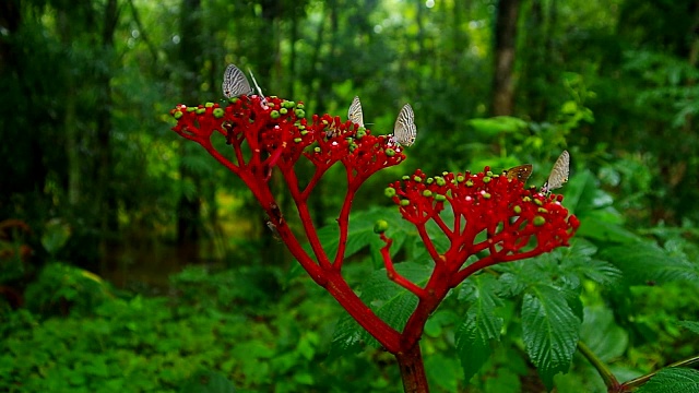
[[[386,242],[381,254],[389,278],[419,299],[403,332],[398,332],[355,295],[341,270],[354,194],[371,175],[405,159],[401,146],[391,143],[386,135],[375,136],[369,130],[343,122],[339,117],[313,115],[308,121],[303,103],[277,97],[262,99],[244,95],[232,98],[226,107],[213,103],[193,108],[178,105],[171,114],[177,119],[173,130],[201,144],[246,182],[269,215],[268,225],[279,231],[311,278],[396,356],[407,391],[426,389],[418,340],[427,318],[451,288],[487,266],[567,246],[579,226],[578,219],[569,216],[560,204],[561,195],[548,196],[534,189],[524,189],[521,181],[494,175],[488,167],[474,175],[445,172],[435,177],[417,170],[403,181],[390,184],[387,195],[400,206],[403,218],[417,227],[435,261],[429,281],[425,287],[419,287],[395,271],[390,257],[392,240],[380,235]],[[221,153],[212,138],[225,141],[233,154]],[[315,166],[312,177],[304,187],[295,170],[299,159],[307,159]],[[323,174],[336,163],[345,168],[347,191],[337,217],[337,252],[328,255],[313,227],[307,202]],[[295,213],[300,218],[312,257],[289,230],[270,190],[269,179],[274,167],[282,172],[294,199]],[[440,214],[447,209],[453,216]],[[428,236],[426,224],[429,221],[434,221],[450,240],[447,250],[437,250]],[[479,259],[464,266],[472,255],[479,255]]]

